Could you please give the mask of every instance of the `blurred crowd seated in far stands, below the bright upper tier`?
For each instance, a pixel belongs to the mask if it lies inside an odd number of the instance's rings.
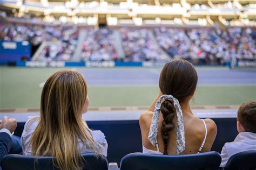
[[[194,63],[223,64],[232,59],[256,59],[256,31],[249,27],[226,30],[157,27],[152,30],[122,27],[123,61],[162,61],[183,58]],[[108,28],[86,27],[82,61],[119,60],[118,37]],[[39,60],[71,60],[78,41],[77,26],[0,24],[0,40],[29,41],[32,45],[51,42]],[[169,58],[170,56],[170,58]]]

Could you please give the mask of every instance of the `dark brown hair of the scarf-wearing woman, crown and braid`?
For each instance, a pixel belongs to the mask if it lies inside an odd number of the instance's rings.
[[[184,102],[197,86],[197,71],[186,60],[173,60],[165,64],[159,79],[159,88],[162,94],[172,95],[178,101]],[[172,101],[165,100],[160,108],[164,121],[161,127],[161,136],[164,140],[164,154],[167,153],[169,134],[174,129],[174,105]]]

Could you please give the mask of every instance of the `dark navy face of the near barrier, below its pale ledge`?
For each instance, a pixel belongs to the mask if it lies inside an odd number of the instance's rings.
[[[237,118],[212,118],[217,124],[218,132],[211,151],[221,152],[226,142],[237,136]],[[90,129],[101,130],[109,145],[107,159],[117,162],[129,153],[142,152],[142,137],[138,120],[125,121],[86,121]],[[25,122],[18,122],[15,135],[21,136]]]

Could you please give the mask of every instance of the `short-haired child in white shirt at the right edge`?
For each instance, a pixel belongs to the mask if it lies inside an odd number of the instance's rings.
[[[221,167],[228,159],[239,152],[256,150],[256,102],[242,103],[237,115],[238,136],[234,141],[226,143],[221,151]]]

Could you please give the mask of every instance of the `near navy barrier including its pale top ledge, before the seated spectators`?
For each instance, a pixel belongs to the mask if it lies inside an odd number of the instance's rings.
[[[107,159],[120,163],[129,153],[142,152],[142,137],[139,116],[143,110],[136,111],[89,111],[83,115],[92,130],[101,130],[109,145]],[[211,151],[221,152],[226,142],[231,142],[238,134],[237,109],[193,110],[199,118],[211,118],[218,127],[217,137]],[[38,116],[39,112],[0,112],[0,118],[8,115],[17,120],[16,136],[21,136],[24,124],[29,118]],[[120,165],[120,164],[119,164]]]

